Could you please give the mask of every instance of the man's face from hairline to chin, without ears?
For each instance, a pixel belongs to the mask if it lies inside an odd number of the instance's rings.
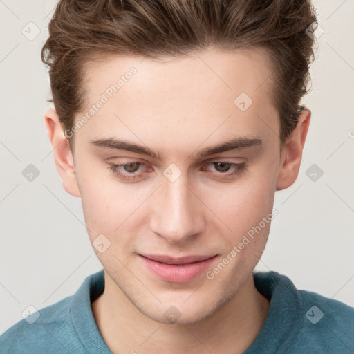
[[[261,50],[88,66],[73,159],[105,291],[188,324],[250,279],[283,162],[270,73]]]

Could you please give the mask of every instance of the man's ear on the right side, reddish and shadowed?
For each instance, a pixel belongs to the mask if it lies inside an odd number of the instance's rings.
[[[292,185],[299,174],[302,151],[310,124],[311,112],[303,109],[297,122],[297,127],[286,140],[281,152],[281,164],[277,180],[277,191]]]

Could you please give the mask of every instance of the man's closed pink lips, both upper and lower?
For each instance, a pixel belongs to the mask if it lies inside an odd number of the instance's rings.
[[[160,254],[138,254],[144,265],[159,279],[171,283],[186,283],[207,270],[217,255],[171,257]]]

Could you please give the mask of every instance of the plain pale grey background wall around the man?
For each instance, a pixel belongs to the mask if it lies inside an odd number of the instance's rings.
[[[40,50],[56,3],[0,0],[0,333],[28,306],[73,295],[102,269],[80,198],[62,187],[46,136],[50,91]],[[304,99],[312,122],[299,178],[276,194],[279,215],[256,269],[354,306],[354,0],[313,4],[324,33]],[[30,164],[39,171],[32,181],[23,175]]]

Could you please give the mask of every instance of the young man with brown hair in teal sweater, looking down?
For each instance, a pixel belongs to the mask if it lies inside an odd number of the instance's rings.
[[[308,1],[59,1],[46,128],[104,269],[1,353],[353,353],[353,308],[254,272],[300,167],[315,20]]]

